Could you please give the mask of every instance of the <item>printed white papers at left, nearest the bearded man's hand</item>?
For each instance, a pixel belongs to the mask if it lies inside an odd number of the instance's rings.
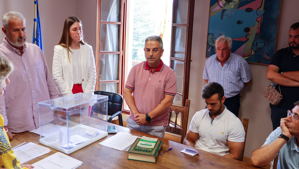
[[[34,144],[32,142],[14,148],[14,154],[20,160],[20,164],[23,164],[34,158],[47,154],[50,151],[50,148],[46,148],[41,145]]]

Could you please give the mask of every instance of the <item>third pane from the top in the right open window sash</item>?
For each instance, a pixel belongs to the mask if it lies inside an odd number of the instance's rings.
[[[175,71],[176,76],[176,83],[178,86],[178,92],[183,93],[183,86],[184,86],[184,62],[173,60],[172,67]]]

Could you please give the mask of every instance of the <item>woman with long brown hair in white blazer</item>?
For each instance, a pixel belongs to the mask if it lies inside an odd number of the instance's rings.
[[[79,18],[66,18],[59,44],[54,46],[52,74],[62,96],[95,90],[96,69],[92,46],[83,40]]]

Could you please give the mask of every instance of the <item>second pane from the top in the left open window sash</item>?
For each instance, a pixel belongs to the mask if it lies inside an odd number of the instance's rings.
[[[119,29],[118,24],[101,24],[100,51],[119,51]]]

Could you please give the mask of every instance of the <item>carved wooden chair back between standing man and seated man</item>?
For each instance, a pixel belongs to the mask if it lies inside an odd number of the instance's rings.
[[[186,100],[185,107],[171,105],[169,109],[169,119],[168,119],[168,126],[166,127],[166,132],[181,135],[181,144],[183,144],[187,132],[189,107],[190,107],[190,100]],[[174,122],[170,120],[172,112],[175,113]],[[177,124],[179,113],[181,113],[181,123]]]

